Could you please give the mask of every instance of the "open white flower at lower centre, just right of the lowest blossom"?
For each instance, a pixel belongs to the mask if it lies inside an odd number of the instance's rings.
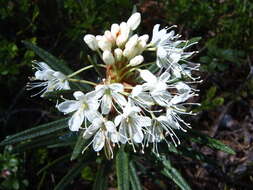
[[[119,126],[120,138],[119,141],[125,144],[128,140],[131,143],[142,143],[144,134],[143,127],[151,125],[151,119],[146,116],[140,116],[139,107],[132,106],[130,103],[123,110],[123,114],[115,118],[115,125]]]

